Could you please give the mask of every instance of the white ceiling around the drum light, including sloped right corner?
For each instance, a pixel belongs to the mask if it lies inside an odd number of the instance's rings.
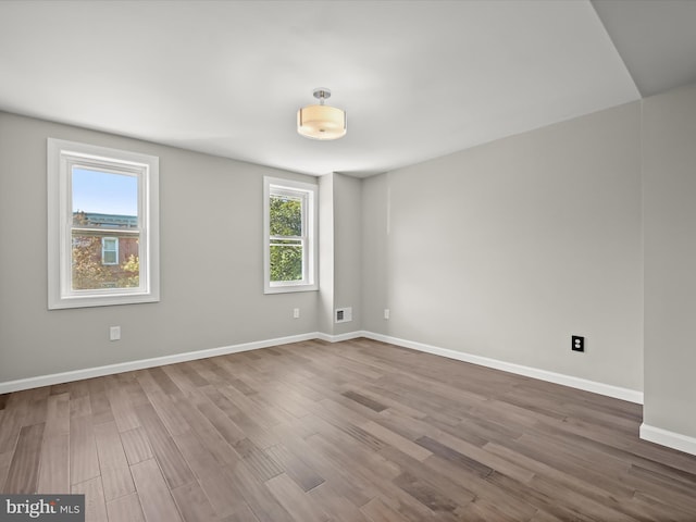
[[[365,176],[695,80],[694,8],[0,1],[0,110],[308,174]],[[347,111],[345,138],[296,133],[296,111],[314,101],[315,87]]]

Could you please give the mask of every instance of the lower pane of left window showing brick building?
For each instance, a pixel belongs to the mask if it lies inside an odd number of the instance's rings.
[[[104,238],[98,232],[73,232],[73,290],[137,288],[139,279],[138,234]]]

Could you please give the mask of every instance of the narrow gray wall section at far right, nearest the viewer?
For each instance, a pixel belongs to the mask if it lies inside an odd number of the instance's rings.
[[[644,101],[645,409],[696,437],[696,86]]]

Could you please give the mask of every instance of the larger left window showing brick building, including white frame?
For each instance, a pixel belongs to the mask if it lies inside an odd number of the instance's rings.
[[[159,301],[159,159],[48,139],[48,307]]]

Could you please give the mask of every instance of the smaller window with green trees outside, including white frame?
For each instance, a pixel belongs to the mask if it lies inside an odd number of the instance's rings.
[[[316,185],[264,178],[265,294],[315,290]]]

